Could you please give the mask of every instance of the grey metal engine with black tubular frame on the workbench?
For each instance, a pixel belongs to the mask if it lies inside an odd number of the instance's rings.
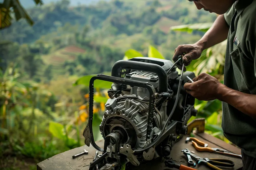
[[[99,74],[90,80],[85,144],[102,154],[89,169],[119,170],[123,164],[139,166],[170,155],[175,142],[187,134],[189,118],[197,115],[195,98],[183,88],[186,76],[194,78],[195,74],[182,70],[179,75],[176,63],[149,57],[120,60],[113,65],[111,76]],[[113,82],[99,127],[104,148],[95,144],[92,133],[96,79]]]

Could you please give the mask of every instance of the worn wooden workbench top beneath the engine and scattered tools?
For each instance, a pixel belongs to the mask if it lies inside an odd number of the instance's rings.
[[[172,160],[176,161],[177,164],[183,164],[187,165],[187,160],[185,155],[183,155],[184,148],[189,149],[190,151],[194,151],[197,156],[200,156],[202,158],[223,158],[223,159],[230,159],[233,162],[235,162],[234,168],[223,168],[221,169],[232,169],[237,170],[243,166],[242,159],[236,158],[236,157],[230,157],[230,156],[224,156],[217,153],[210,153],[210,152],[197,152],[195,148],[193,147],[192,143],[189,142],[188,144],[185,143],[185,138],[187,136],[183,137],[179,142],[177,142],[174,147],[172,148],[171,152],[171,158]],[[217,147],[221,149],[225,149],[228,151],[231,151],[236,154],[241,154],[241,150],[233,145],[227,144],[224,141],[212,137],[205,133],[195,134],[195,137],[199,140],[207,143],[209,147]],[[98,141],[96,142],[98,146],[103,148],[104,141]],[[78,154],[80,152],[83,152],[84,149],[86,149],[89,153],[88,155],[79,156],[76,159],[72,159],[72,155]],[[87,170],[89,169],[89,164],[92,162],[92,159],[96,153],[96,150],[92,147],[84,145],[63,153],[60,153],[58,155],[55,155],[49,159],[46,159],[40,163],[37,164],[37,170]],[[101,154],[101,152],[100,152]],[[195,162],[195,160],[193,160]],[[209,168],[205,166],[198,166],[195,167],[198,170],[209,170]],[[138,166],[135,168],[132,168],[133,170],[167,170],[170,168],[167,168],[164,165],[164,161],[149,161],[147,164],[143,164],[142,166]],[[174,170],[174,168],[172,168]]]

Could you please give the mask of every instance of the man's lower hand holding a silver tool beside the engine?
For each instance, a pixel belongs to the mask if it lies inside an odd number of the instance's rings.
[[[185,83],[184,89],[198,100],[215,100],[217,99],[217,89],[220,82],[206,73],[201,73],[193,78],[193,83]]]

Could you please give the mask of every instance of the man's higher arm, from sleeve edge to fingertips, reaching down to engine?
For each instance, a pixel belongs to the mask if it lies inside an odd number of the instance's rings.
[[[189,65],[192,60],[198,59],[202,51],[215,44],[218,44],[228,38],[229,26],[224,18],[224,15],[220,15],[214,21],[211,28],[204,34],[204,36],[197,41],[195,44],[180,45],[175,49],[175,53],[172,60],[176,62],[179,55],[183,56],[183,61],[185,65]],[[178,66],[180,69],[181,67]]]

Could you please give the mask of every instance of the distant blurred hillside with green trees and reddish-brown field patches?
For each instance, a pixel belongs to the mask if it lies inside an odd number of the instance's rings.
[[[0,32],[1,40],[12,42],[7,45],[10,48],[36,55],[41,62],[36,67],[40,74],[50,67],[54,74],[76,75],[110,71],[126,50],[133,48],[146,54],[149,44],[171,59],[178,45],[193,43],[203,33],[172,32],[170,26],[213,22],[216,18],[215,14],[198,11],[187,0],[114,0],[78,7],[70,7],[68,0],[62,0],[36,6],[28,13],[34,26],[25,20],[15,22]],[[25,54],[9,53],[7,46],[1,51],[2,67],[17,59],[26,61],[21,56]],[[41,79],[40,74],[34,71],[30,78]]]

